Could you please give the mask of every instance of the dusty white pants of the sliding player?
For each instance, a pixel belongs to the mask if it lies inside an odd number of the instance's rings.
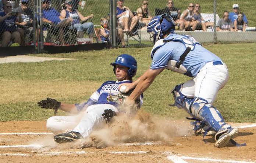
[[[118,112],[117,108],[110,104],[90,105],[79,115],[52,116],[47,119],[46,127],[53,133],[62,133],[67,129],[73,130],[82,134],[83,138],[86,138],[95,127],[106,122],[102,116],[106,109]]]

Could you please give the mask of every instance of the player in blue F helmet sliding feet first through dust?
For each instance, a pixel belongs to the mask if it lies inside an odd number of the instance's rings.
[[[58,143],[70,142],[81,138],[86,138],[90,135],[93,128],[100,123],[108,123],[110,119],[120,112],[121,104],[124,103],[127,94],[122,94],[118,90],[118,85],[123,83],[131,83],[132,77],[136,75],[137,62],[135,58],[128,54],[119,55],[115,62],[111,63],[114,66],[114,74],[117,81],[106,81],[90,96],[86,103],[82,104],[66,104],[58,102],[55,99],[42,100],[38,102],[41,108],[54,109],[54,114],[58,109],[65,112],[80,115],[72,116],[52,116],[47,119],[47,129],[53,133],[60,133],[67,129],[72,129],[66,133],[54,136],[54,141]],[[141,107],[143,102],[143,95],[139,96],[138,108]],[[81,120],[79,122],[78,119]]]

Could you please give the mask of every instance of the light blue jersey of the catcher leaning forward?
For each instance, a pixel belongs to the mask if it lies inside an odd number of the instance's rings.
[[[170,40],[163,42],[163,40]],[[179,68],[175,67],[180,56],[190,47],[191,51],[186,56]],[[160,39],[151,51],[151,69],[167,68],[189,77],[196,77],[200,69],[207,62],[221,61],[218,56],[208,51],[195,38],[176,33],[169,34],[166,38]]]

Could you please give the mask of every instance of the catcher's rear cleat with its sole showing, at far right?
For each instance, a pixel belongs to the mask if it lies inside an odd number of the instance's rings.
[[[228,143],[232,138],[235,138],[237,136],[238,136],[238,129],[234,129],[234,128],[221,129],[215,134],[215,140],[216,140],[215,147],[218,147],[218,148],[225,147],[228,145]]]

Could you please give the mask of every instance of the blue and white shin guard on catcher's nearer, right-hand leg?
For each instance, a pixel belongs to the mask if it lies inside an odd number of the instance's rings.
[[[198,98],[191,105],[191,113],[195,118],[210,126],[215,132],[222,128],[231,127],[224,122],[220,112],[204,99]]]

